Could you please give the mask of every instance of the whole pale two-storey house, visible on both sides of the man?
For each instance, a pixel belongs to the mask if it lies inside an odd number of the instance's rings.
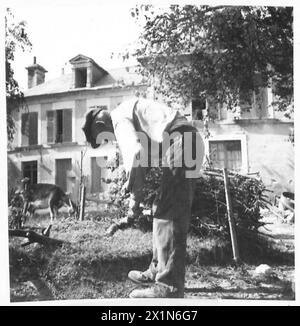
[[[86,112],[95,106],[113,110],[136,92],[155,97],[135,67],[106,71],[84,55],[70,64],[70,74],[62,72],[46,82],[44,67],[35,61],[27,67],[27,109],[15,113],[16,134],[8,150],[10,187],[27,176],[34,183],[55,183],[75,199],[83,175],[87,192],[105,192],[101,178],[107,170],[97,164],[99,154],[87,145],[81,129]],[[194,99],[184,114],[202,133],[206,157],[214,167],[259,172],[267,188],[279,195],[294,191],[294,148],[288,140],[293,120],[276,112],[273,101],[271,89],[265,88],[234,113]],[[214,120],[205,138],[203,116],[208,108]]]

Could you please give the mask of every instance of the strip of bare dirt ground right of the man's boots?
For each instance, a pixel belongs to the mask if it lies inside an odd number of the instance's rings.
[[[294,300],[294,269],[273,267],[270,277],[254,275],[255,266],[189,267],[185,297],[190,299]]]

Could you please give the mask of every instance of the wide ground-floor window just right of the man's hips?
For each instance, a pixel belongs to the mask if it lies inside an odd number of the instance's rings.
[[[236,172],[242,168],[240,140],[210,141],[209,155],[214,168],[226,167]]]

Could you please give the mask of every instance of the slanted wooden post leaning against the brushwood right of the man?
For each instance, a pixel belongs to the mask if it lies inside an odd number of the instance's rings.
[[[239,263],[240,255],[239,255],[239,249],[238,249],[237,239],[236,239],[235,223],[233,220],[232,204],[231,204],[228,175],[227,175],[226,168],[223,169],[223,175],[224,175],[224,188],[225,188],[225,196],[226,196],[226,203],[227,203],[227,215],[228,215],[228,223],[229,223],[230,236],[231,236],[233,259],[236,263]]]

